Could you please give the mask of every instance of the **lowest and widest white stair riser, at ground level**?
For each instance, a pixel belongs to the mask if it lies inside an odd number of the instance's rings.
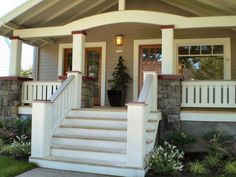
[[[69,162],[58,162],[58,161],[47,161],[30,159],[30,162],[36,163],[39,167],[52,168],[59,170],[70,170],[78,172],[96,173],[104,175],[114,175],[114,176],[126,176],[126,177],[144,177],[144,170],[128,169],[128,168],[116,168],[116,167],[106,167],[106,166],[94,166],[86,164],[76,164]],[[83,176],[83,175],[81,175]]]

